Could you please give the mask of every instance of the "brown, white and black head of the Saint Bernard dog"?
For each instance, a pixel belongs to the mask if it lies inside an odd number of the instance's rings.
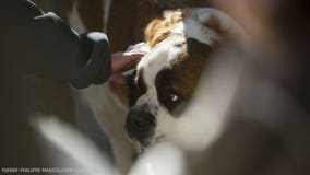
[[[129,92],[126,131],[133,141],[147,147],[180,139],[175,133],[180,113],[207,58],[235,25],[214,9],[168,11],[148,24],[145,38],[152,49],[138,65]]]

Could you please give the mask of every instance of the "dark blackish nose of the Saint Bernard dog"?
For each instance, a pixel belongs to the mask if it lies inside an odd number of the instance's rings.
[[[133,106],[127,116],[126,130],[131,139],[147,145],[148,138],[153,135],[155,117],[148,112],[147,107]]]

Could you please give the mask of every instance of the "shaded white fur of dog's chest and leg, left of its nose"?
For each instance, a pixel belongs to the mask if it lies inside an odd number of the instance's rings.
[[[117,167],[123,173],[128,172],[136,154],[133,144],[126,138],[123,129],[128,110],[114,95],[107,83],[81,90],[81,95],[110,139]]]

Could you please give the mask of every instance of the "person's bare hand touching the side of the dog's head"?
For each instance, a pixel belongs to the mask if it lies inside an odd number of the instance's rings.
[[[126,84],[126,77],[122,75],[122,72],[133,69],[144,55],[145,52],[142,51],[135,51],[130,55],[124,55],[121,51],[114,52],[111,55],[112,74],[109,81]]]

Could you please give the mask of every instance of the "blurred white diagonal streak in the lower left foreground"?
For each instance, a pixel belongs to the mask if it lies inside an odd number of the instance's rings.
[[[117,175],[118,172],[110,162],[103,155],[100,150],[94,142],[72,126],[67,125],[56,116],[32,117],[31,124],[37,129],[44,138],[56,144],[63,152],[68,153],[88,175]],[[50,150],[44,150],[50,151]],[[63,158],[65,155],[57,155],[53,158]],[[65,160],[65,159],[64,159]],[[63,160],[50,160],[63,161]],[[62,164],[72,165],[74,163],[63,162]]]

